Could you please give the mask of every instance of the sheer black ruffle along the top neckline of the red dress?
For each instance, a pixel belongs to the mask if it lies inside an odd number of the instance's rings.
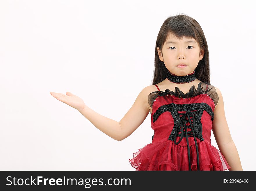
[[[175,87],[174,92],[169,89],[166,89],[164,92],[163,91],[152,92],[148,95],[148,104],[152,108],[154,100],[158,96],[165,96],[167,94],[172,94],[174,96],[182,97],[182,98],[195,97],[199,94],[208,94],[211,97],[211,99],[214,101],[215,106],[217,105],[219,100],[218,94],[213,85],[211,85],[208,82],[200,82],[198,83],[197,89],[195,89],[195,85],[192,85],[191,88],[189,89],[189,92],[187,92],[186,94],[184,94],[181,90],[179,90],[178,87]]]

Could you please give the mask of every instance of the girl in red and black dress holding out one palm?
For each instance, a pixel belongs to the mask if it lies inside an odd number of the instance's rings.
[[[150,112],[152,143],[129,159],[136,170],[242,170],[221,91],[210,84],[208,46],[195,19],[180,14],[161,26],[152,84],[139,93],[120,122],[96,113],[71,92],[50,94],[119,141]],[[221,152],[211,145],[211,130]]]

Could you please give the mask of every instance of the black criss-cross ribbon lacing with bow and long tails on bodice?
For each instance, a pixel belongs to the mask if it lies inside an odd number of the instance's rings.
[[[179,131],[181,131],[181,133],[177,134],[177,132],[178,132],[177,129],[178,128],[176,128],[176,130],[175,130],[175,137],[174,137],[174,143],[175,144],[179,144],[179,142],[181,142],[181,140],[183,138],[184,133],[186,133],[186,141],[187,141],[187,145],[188,145],[188,156],[189,156],[189,170],[191,170],[191,164],[190,164],[190,149],[189,149],[188,137],[194,137],[195,148],[196,148],[196,157],[197,157],[197,166],[198,166],[198,170],[200,170],[200,167],[199,167],[198,144],[196,142],[196,138],[195,137],[197,136],[197,137],[200,138],[200,140],[203,140],[202,139],[202,123],[201,123],[200,119],[198,118],[198,116],[195,114],[195,112],[186,111],[186,113],[179,113],[179,115],[182,115],[182,117],[181,117],[181,120],[178,122],[177,126],[181,127],[179,129]],[[186,120],[186,116],[187,116],[188,120]],[[190,116],[192,116],[193,122],[191,122]],[[198,121],[199,121],[199,125],[200,125],[199,134],[198,134],[198,131],[196,131],[196,129],[195,129],[196,128],[195,125],[194,125],[195,124],[195,118],[197,118]],[[187,122],[189,122],[190,125],[186,125]],[[185,127],[185,132],[184,132],[183,127]],[[187,128],[191,128],[191,131],[187,131]],[[176,142],[176,137],[177,136],[180,137],[180,140],[178,142]]]

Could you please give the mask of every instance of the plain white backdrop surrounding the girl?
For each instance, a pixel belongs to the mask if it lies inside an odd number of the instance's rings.
[[[150,113],[116,141],[49,92],[120,121],[151,85],[163,21],[184,13],[205,33],[243,170],[256,170],[255,10],[242,2],[0,1],[0,169],[135,170],[129,159],[152,142]]]

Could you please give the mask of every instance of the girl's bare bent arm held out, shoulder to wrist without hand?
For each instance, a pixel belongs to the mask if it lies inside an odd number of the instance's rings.
[[[120,122],[104,117],[88,106],[85,106],[85,108],[79,112],[100,131],[115,140],[121,141],[131,135],[142,124],[150,112],[150,108],[148,108],[146,102],[148,91],[149,86],[141,90],[134,104]]]

